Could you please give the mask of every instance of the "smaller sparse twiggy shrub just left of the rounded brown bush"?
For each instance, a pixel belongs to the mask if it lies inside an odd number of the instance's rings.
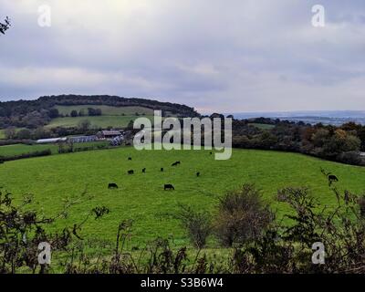
[[[197,248],[203,248],[206,244],[206,238],[212,230],[209,214],[195,212],[191,207],[183,204],[180,204],[179,207],[180,211],[175,217],[181,220],[193,245]]]

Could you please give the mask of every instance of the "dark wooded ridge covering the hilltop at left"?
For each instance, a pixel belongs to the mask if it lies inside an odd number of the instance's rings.
[[[41,97],[36,100],[21,99],[0,102],[0,130],[8,127],[35,129],[52,123],[54,119],[69,115],[71,110],[87,110],[90,107],[99,108],[108,117],[116,115],[136,116],[136,113],[151,115],[153,110],[162,110],[162,115],[199,116],[193,108],[171,102],[151,99],[127,99],[107,95],[61,95]],[[68,121],[67,123],[69,124]],[[56,121],[56,125],[62,126],[62,123]],[[106,126],[114,125],[115,123]]]

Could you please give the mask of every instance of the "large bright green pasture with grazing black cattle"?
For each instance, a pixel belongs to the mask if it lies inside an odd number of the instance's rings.
[[[128,161],[128,157],[132,161]],[[181,161],[173,168],[171,163]],[[141,173],[143,167],[146,173]],[[164,167],[165,172],[160,172]],[[87,151],[5,162],[0,165],[1,185],[19,201],[22,194],[35,195],[35,207],[45,214],[57,214],[63,200],[77,198],[86,189],[90,200],[78,203],[68,219],[53,228],[80,223],[95,206],[106,205],[110,214],[100,220],[91,219],[81,235],[87,238],[114,240],[123,219],[134,220],[132,245],[143,245],[157,236],[173,235],[175,245],[186,245],[188,239],[179,222],[169,214],[178,203],[199,210],[214,210],[218,198],[242,183],[255,183],[272,203],[278,217],[287,214],[285,203],[276,203],[276,191],[286,186],[308,186],[322,206],[336,204],[329,192],[323,167],[339,176],[339,190],[355,193],[365,190],[365,168],[324,162],[296,153],[276,151],[234,150],[231,160],[215,161],[209,151],[135,151],[118,148]],[[133,169],[136,173],[128,175]],[[201,172],[201,177],[195,176]],[[118,190],[108,190],[108,183],[118,183]],[[163,191],[164,183],[172,183],[175,191]],[[19,201],[20,202],[20,201]],[[216,247],[211,240],[210,247]]]

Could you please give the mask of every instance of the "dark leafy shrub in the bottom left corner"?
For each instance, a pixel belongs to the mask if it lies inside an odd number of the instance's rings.
[[[44,273],[46,266],[40,266],[37,261],[37,245],[48,242],[53,250],[63,250],[70,242],[67,229],[47,235],[44,226],[54,223],[55,218],[45,218],[36,211],[26,210],[32,200],[31,195],[26,195],[18,206],[10,193],[0,189],[0,274],[15,274],[25,267],[32,273],[37,269]]]

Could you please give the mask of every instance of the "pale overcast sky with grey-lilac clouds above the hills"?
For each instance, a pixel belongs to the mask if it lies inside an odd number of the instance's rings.
[[[51,26],[39,26],[42,5]],[[313,5],[324,26],[312,25]],[[108,94],[202,113],[365,110],[363,0],[0,0],[5,16],[1,101]]]

